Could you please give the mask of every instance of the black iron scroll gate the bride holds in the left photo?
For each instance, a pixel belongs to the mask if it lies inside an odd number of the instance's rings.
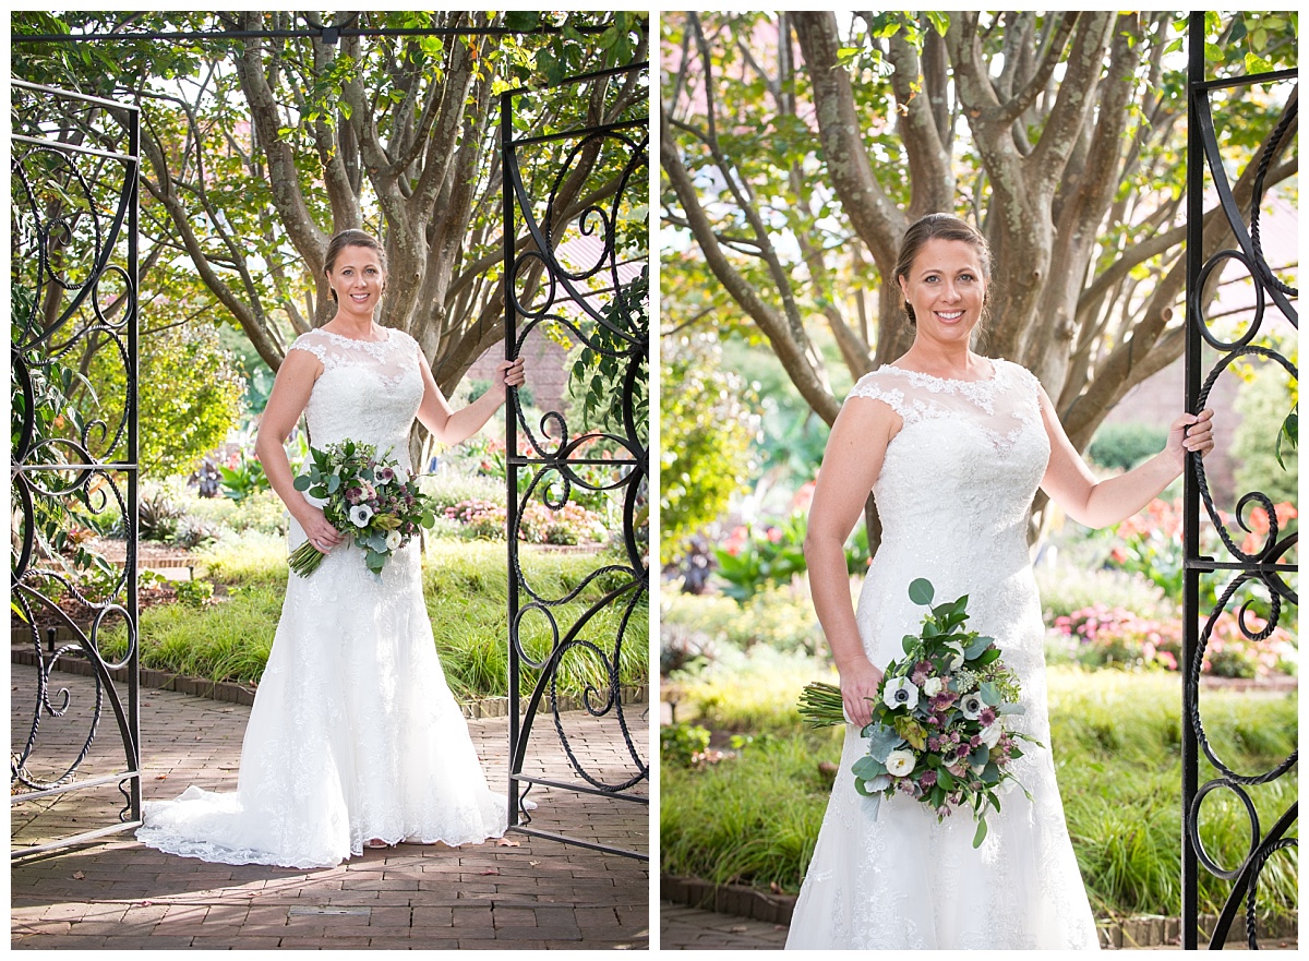
[[[518,136],[514,103],[529,94],[501,97],[504,236],[521,234],[517,245],[505,244],[507,355],[518,356],[533,335],[569,342],[569,386],[577,402],[568,414],[546,411],[535,429],[521,391],[513,391],[509,407],[509,824],[525,834],[641,859],[649,855],[614,842],[644,831],[606,834],[589,824],[584,837],[568,827],[533,827],[518,799],[542,786],[649,804],[648,745],[632,729],[634,721],[649,723],[647,77],[648,64],[632,64],[530,94],[606,105],[607,122],[562,132]],[[548,166],[525,160],[530,151],[548,154]],[[541,539],[539,529],[528,530],[533,512],[564,511],[584,491],[620,500],[620,530],[611,532],[585,577],[560,584],[529,563],[542,555],[520,547],[520,537]],[[593,680],[569,698],[560,678],[573,665]],[[632,674],[641,683],[634,685]],[[543,740],[551,738],[537,724],[546,712],[558,738],[550,750],[562,748],[568,778],[538,763]],[[597,753],[601,731],[609,748]]]

